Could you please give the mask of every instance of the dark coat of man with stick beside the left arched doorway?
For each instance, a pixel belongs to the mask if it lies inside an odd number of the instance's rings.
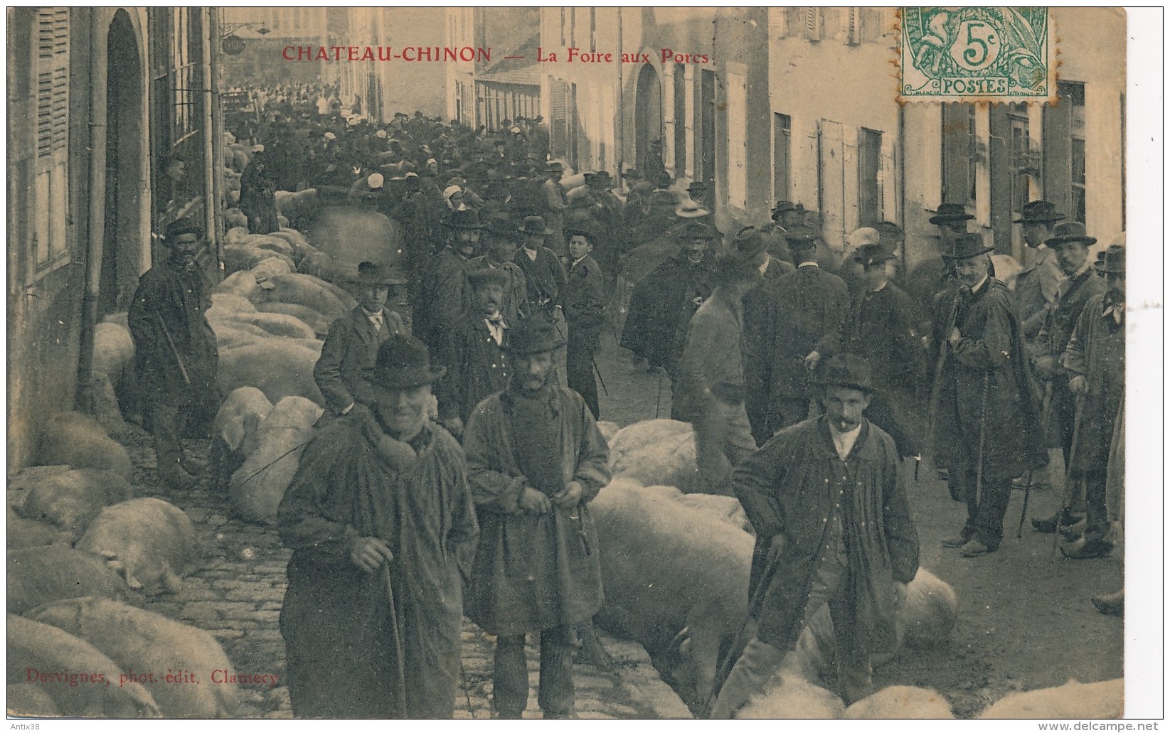
[[[219,347],[205,314],[211,289],[201,269],[186,269],[170,260],[138,281],[126,325],[135,341],[135,375],[147,430],[150,406],[159,400],[186,399],[199,413],[187,420],[197,435],[219,412]]]

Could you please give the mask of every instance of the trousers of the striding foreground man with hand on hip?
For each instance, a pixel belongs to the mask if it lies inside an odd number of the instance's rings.
[[[837,637],[834,665],[838,686],[842,699],[848,705],[868,696],[872,691],[873,666],[869,656],[860,649],[854,637],[849,571],[837,558],[827,559],[817,568],[817,575],[813,578],[808,594],[808,603],[805,606],[804,620],[793,638],[799,636],[800,630],[808,625],[813,615],[826,603],[833,618],[833,632]],[[727,682],[723,683],[715,705],[711,707],[710,718],[722,719],[735,715],[749,699],[764,690],[773,675],[784,666],[787,655],[792,654],[791,650],[782,650],[759,641],[756,636],[755,621],[749,621],[745,632],[750,632],[752,638],[744,646],[743,654],[731,668]]]

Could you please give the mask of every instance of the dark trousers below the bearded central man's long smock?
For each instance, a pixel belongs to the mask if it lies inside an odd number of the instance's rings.
[[[500,718],[519,718],[528,707],[524,635],[496,638],[491,705]],[[573,714],[573,644],[570,627],[541,631],[541,685],[537,703],[545,718]]]

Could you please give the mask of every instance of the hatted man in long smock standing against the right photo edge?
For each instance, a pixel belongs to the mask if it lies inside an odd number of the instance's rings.
[[[1106,290],[1088,299],[1065,348],[1068,388],[1081,401],[1072,477],[1085,482],[1085,535],[1065,555],[1075,560],[1103,558],[1113,551],[1110,520],[1120,520],[1121,502],[1107,497],[1110,443],[1126,402],[1126,248],[1106,250]],[[1116,468],[1114,468],[1116,470]],[[1109,502],[1107,503],[1107,499]]]

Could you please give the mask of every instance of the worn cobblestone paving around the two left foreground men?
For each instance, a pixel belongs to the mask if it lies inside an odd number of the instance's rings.
[[[135,459],[136,483],[157,486],[150,438],[139,430],[122,436]],[[193,445],[192,445],[193,447]],[[284,569],[291,551],[281,546],[273,527],[232,516],[226,495],[205,484],[191,491],[153,490],[160,499],[183,509],[204,542],[206,566],[183,580],[178,594],[159,595],[145,608],[183,623],[206,629],[219,639],[238,675],[276,675],[275,686],[241,685],[239,718],[291,718],[284,683],[284,641],[277,620],[284,597]],[[589,663],[574,666],[577,712],[581,718],[690,718],[690,712],[651,665],[636,642],[601,636],[614,661],[614,671]],[[491,693],[494,637],[470,621],[463,625],[462,689],[455,718],[488,719]],[[539,718],[536,705],[538,648],[529,639],[532,693],[525,718]]]

